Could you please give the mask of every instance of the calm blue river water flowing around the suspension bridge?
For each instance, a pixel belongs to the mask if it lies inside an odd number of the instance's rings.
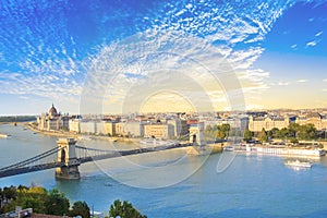
[[[12,135],[0,138],[0,167],[57,146],[57,137],[23,126],[3,124],[0,132]],[[113,143],[78,144],[106,148]],[[313,160],[312,169],[299,170],[286,167],[282,157],[237,155],[218,173],[223,155],[190,157],[184,149],[152,153],[84,164],[78,181],[56,180],[50,169],[2,178],[0,186],[58,187],[72,202],[85,201],[104,213],[114,199],[126,199],[148,217],[327,217],[327,157]]]

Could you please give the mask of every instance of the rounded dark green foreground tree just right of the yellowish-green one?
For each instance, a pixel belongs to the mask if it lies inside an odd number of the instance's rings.
[[[46,214],[62,216],[69,213],[70,201],[59,190],[53,189],[48,192],[45,207]]]

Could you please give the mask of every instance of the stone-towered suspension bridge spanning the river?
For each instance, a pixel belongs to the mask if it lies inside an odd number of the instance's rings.
[[[76,145],[74,138],[59,138],[57,141],[57,147],[26,160],[1,168],[0,178],[56,168],[56,178],[58,179],[80,179],[78,166],[89,161],[187,146],[191,146],[193,154],[204,148],[202,125],[193,128],[192,131],[190,129],[190,133],[183,137],[185,136],[190,138],[190,143],[180,144],[175,141],[170,141],[170,143],[164,145],[140,147],[129,150],[90,148]]]

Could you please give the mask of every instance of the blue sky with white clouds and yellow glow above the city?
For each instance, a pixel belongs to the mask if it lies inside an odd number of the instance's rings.
[[[326,0],[2,0],[0,114],[327,107]]]

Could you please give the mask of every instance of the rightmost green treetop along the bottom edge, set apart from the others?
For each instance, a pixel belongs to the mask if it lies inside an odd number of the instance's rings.
[[[142,215],[137,209],[135,209],[131,203],[116,199],[110,206],[109,217],[118,216],[121,218],[146,218],[146,216]]]

